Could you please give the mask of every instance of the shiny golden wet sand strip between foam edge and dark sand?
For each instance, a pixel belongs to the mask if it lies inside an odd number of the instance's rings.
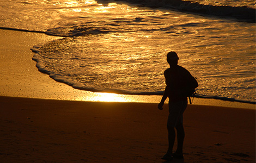
[[[56,82],[47,74],[41,73],[32,60],[31,48],[40,43],[61,39],[42,33],[20,32],[0,29],[0,96],[59,99],[70,101],[105,101],[159,103],[161,96],[117,95],[74,89]],[[167,103],[167,101],[166,101]],[[255,104],[228,102],[217,99],[194,98],[193,105],[230,106],[256,109]]]

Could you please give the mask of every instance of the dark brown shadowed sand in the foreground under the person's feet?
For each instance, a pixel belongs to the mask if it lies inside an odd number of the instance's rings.
[[[0,97],[2,162],[164,162],[167,106]],[[188,105],[183,160],[255,162],[255,111]]]

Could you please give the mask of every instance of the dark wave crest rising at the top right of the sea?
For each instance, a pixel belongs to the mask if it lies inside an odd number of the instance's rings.
[[[115,0],[122,1],[122,0]],[[255,22],[256,10],[248,7],[231,7],[228,5],[208,5],[181,0],[129,0],[139,7],[171,8],[179,11],[193,12],[200,15],[236,18],[239,21]]]

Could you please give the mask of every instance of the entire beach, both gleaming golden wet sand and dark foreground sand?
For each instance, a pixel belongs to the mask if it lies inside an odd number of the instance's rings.
[[[164,162],[161,97],[73,89],[31,59],[31,47],[59,37],[0,36],[0,162]],[[255,105],[194,99],[184,126],[185,158],[171,162],[255,162]]]

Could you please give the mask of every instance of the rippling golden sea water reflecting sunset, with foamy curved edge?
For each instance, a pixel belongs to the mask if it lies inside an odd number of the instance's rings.
[[[255,103],[255,1],[1,1],[0,28],[60,39],[35,45],[39,71],[75,89],[162,95],[166,54],[197,97]],[[19,57],[19,56],[17,56]]]

